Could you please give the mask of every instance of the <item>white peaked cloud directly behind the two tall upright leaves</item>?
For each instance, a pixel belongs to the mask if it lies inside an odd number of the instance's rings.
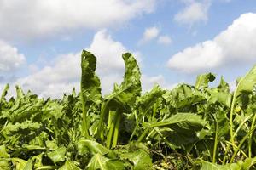
[[[96,32],[86,49],[97,57],[96,73],[101,77],[102,93],[108,94],[113,89],[113,82],[120,83],[123,79],[125,65],[121,54],[127,49],[121,42],[114,41],[106,30]],[[16,83],[42,97],[61,97],[63,92],[70,92],[73,87],[79,89],[80,52],[61,54],[51,65],[34,71]]]

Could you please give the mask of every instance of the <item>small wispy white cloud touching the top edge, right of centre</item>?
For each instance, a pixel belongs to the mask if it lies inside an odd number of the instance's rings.
[[[186,7],[174,16],[177,23],[192,26],[195,23],[208,20],[208,9],[211,6],[211,0],[195,1],[184,0]]]

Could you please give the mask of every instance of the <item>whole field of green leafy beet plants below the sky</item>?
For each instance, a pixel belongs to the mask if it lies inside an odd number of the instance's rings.
[[[83,51],[79,93],[40,99],[16,86],[0,99],[0,169],[256,169],[256,66],[230,92],[222,77],[197,77],[142,95],[141,73],[123,54],[125,75],[101,94],[96,57]]]

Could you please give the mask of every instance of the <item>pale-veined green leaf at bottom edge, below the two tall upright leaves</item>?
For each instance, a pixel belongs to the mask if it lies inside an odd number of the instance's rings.
[[[122,161],[111,160],[100,154],[94,155],[88,163],[87,170],[121,170],[125,169]]]

